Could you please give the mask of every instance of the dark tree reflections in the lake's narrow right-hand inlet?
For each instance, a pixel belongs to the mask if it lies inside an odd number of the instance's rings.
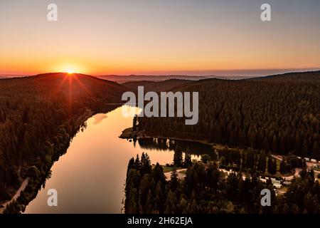
[[[144,138],[139,139],[138,143],[142,149],[147,150],[174,151],[176,147],[180,147],[183,152],[188,152],[191,155],[208,154],[212,158],[215,158],[213,147],[201,142],[168,140],[161,138]]]

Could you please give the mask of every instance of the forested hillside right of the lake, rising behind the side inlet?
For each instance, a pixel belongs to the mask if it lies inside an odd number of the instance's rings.
[[[199,92],[197,125],[185,125],[184,118],[139,118],[139,129],[153,136],[210,140],[320,159],[319,79],[318,71],[191,82],[174,90]]]

